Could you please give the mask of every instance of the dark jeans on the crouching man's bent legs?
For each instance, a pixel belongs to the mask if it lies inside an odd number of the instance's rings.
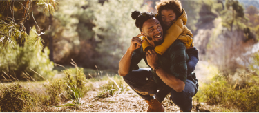
[[[173,103],[178,105],[180,110],[184,112],[189,112],[193,107],[192,97],[198,90],[197,79],[195,79],[195,81],[187,79],[182,92],[176,92],[168,85],[157,85],[151,76],[150,68],[133,70],[123,78],[124,81],[145,100],[153,99],[153,96],[155,96],[161,103],[164,100],[164,97],[171,92],[170,98]],[[157,92],[157,90],[160,91]]]

